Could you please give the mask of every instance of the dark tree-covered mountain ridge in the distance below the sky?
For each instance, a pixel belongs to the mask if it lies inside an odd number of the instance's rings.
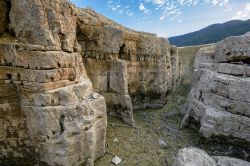
[[[209,44],[229,36],[238,36],[250,31],[250,19],[232,20],[222,24],[213,24],[199,31],[181,36],[170,37],[169,42],[178,47]]]

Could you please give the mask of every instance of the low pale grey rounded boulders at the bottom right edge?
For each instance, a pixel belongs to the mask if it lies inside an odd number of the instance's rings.
[[[174,166],[249,166],[250,163],[224,156],[209,157],[203,150],[196,148],[181,149]]]

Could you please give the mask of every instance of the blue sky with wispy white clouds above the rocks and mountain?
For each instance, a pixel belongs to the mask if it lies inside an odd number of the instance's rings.
[[[171,37],[210,24],[250,19],[250,0],[70,0],[135,30]]]

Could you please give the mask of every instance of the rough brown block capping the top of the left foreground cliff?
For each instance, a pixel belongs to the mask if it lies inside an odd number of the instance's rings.
[[[77,49],[74,10],[67,0],[12,0],[10,28],[23,43],[73,52]]]

